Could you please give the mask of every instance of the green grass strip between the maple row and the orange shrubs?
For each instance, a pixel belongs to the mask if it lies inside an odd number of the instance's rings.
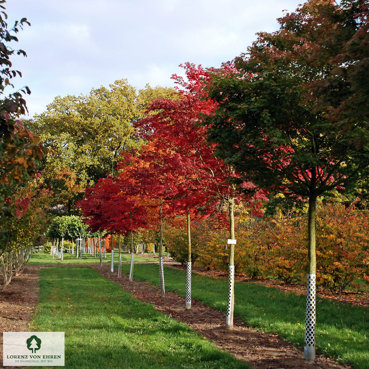
[[[122,272],[129,273],[129,265]],[[165,289],[186,296],[186,271],[164,268]],[[159,286],[155,264],[136,264],[134,279]],[[259,283],[235,283],[235,317],[251,327],[279,334],[296,346],[304,345],[306,296],[285,293]],[[224,313],[228,281],[192,273],[192,298]],[[317,353],[358,369],[369,369],[369,308],[317,298]]]

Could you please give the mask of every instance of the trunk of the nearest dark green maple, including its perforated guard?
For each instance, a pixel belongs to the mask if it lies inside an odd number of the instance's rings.
[[[309,197],[308,210],[308,270],[306,293],[306,318],[305,318],[305,347],[304,358],[315,360],[315,219],[316,196]]]

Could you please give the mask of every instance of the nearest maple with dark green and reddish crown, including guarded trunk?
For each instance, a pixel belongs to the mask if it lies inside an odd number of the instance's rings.
[[[284,206],[308,202],[304,356],[315,359],[316,202],[368,179],[369,5],[310,0],[260,33],[235,70],[214,71],[206,119],[217,153]]]

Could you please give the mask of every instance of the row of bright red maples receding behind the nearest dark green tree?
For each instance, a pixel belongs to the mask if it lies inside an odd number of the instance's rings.
[[[254,198],[245,197],[233,183],[237,177],[230,165],[214,156],[215,145],[206,142],[204,128],[196,127],[201,114],[211,114],[214,103],[201,99],[202,77],[208,73],[187,63],[188,82],[173,76],[184,88],[170,99],[156,99],[147,110],[147,117],[136,123],[138,138],[145,144],[136,152],[126,152],[117,165],[115,177],[102,179],[88,189],[85,200],[79,202],[87,223],[93,230],[130,232],[139,227],[155,227],[159,231],[159,264],[161,294],[165,296],[162,269],[163,223],[175,215],[187,218],[187,299],[191,307],[191,237],[194,218],[215,212],[227,214],[230,239],[234,239],[233,209],[241,200],[257,211],[259,192]],[[245,183],[244,186],[252,186]],[[231,243],[233,251],[234,243]],[[133,255],[133,250],[132,250]],[[233,285],[233,252],[230,254],[230,288]],[[232,291],[231,291],[232,292]],[[232,294],[230,294],[231,296]],[[233,300],[230,301],[227,325],[232,327]]]

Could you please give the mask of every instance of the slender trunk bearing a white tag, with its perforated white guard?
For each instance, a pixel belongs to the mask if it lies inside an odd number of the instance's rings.
[[[230,219],[230,240],[235,240],[234,237],[234,199],[230,199],[228,205]],[[233,310],[234,310],[234,242],[230,242],[229,256],[229,272],[228,272],[228,306],[227,316],[225,318],[225,326],[229,329],[233,328]]]

